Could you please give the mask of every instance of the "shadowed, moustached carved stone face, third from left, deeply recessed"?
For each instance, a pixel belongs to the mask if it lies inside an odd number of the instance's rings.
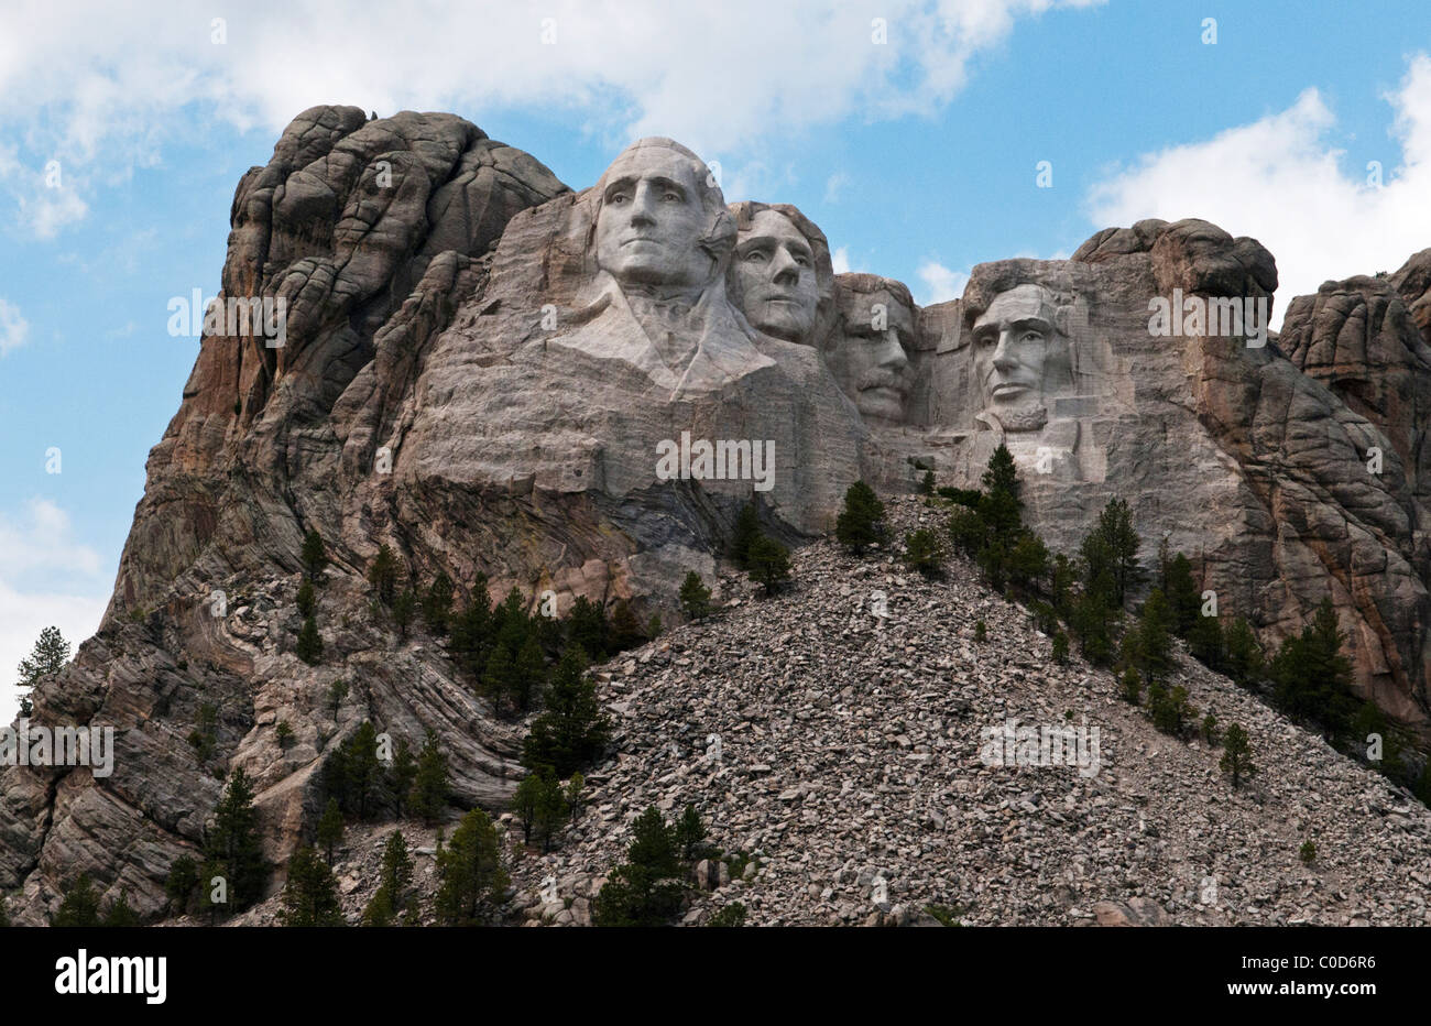
[[[883,313],[871,316],[877,306]],[[844,394],[866,419],[902,422],[909,389],[909,355],[894,323],[907,312],[886,290],[844,295],[840,301],[843,331],[826,351],[826,363]]]

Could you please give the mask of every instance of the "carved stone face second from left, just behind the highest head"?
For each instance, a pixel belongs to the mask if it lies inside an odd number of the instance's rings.
[[[809,339],[820,303],[814,250],[788,218],[756,215],[736,243],[736,275],[751,325],[790,342]]]

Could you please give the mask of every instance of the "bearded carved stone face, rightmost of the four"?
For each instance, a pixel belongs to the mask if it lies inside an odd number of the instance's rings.
[[[1037,285],[999,293],[973,325],[973,362],[983,409],[1006,426],[1043,401],[1045,361],[1058,339],[1056,313]]]

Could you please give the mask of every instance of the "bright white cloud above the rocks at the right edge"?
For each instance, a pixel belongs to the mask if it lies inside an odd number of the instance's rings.
[[[1328,279],[1395,270],[1431,242],[1431,57],[1411,59],[1385,96],[1394,146],[1358,149],[1352,175],[1325,139],[1337,119],[1315,89],[1286,110],[1201,143],[1143,156],[1089,196],[1096,228],[1141,218],[1202,218],[1249,235],[1276,258],[1276,321]],[[1379,160],[1382,186],[1365,165]]]

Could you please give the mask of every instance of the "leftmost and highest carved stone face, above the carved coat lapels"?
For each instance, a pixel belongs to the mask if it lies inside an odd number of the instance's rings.
[[[602,176],[597,265],[622,285],[700,285],[713,259],[701,249],[708,215],[690,157],[641,146]]]

